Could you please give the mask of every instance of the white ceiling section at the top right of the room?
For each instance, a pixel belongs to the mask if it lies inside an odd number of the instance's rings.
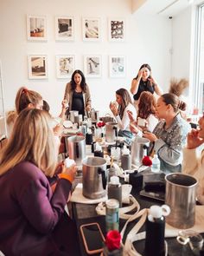
[[[191,4],[190,0],[147,0],[143,2],[143,5],[136,13],[145,13],[145,15],[158,14],[162,16],[176,16]]]

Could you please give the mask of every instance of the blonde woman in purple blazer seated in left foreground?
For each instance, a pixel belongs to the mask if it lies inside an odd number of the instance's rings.
[[[0,157],[0,251],[5,255],[79,255],[76,230],[64,212],[75,166],[63,168],[54,194],[58,148],[47,112],[18,115]]]

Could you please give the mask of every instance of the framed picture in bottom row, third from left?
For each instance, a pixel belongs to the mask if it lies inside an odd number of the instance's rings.
[[[84,73],[86,77],[100,77],[101,56],[84,56]]]

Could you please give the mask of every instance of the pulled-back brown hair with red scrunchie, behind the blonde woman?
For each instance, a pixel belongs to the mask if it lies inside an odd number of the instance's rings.
[[[16,94],[16,112],[19,114],[22,109],[27,108],[29,103],[32,103],[34,107],[38,102],[42,100],[42,97],[39,93],[34,90],[29,90],[25,87],[21,87]]]

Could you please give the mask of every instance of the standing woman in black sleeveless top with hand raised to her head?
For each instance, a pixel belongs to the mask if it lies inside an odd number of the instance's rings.
[[[149,91],[151,94],[162,95],[162,89],[157,85],[155,79],[151,76],[151,68],[149,64],[143,64],[138,74],[131,82],[131,94],[137,105],[139,96],[143,91]]]

